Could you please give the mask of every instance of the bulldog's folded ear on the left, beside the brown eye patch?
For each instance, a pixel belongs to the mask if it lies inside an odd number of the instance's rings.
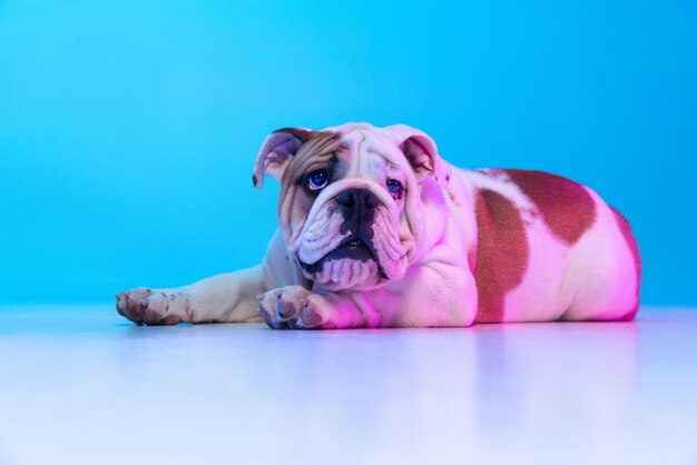
[[[311,133],[312,131],[305,128],[283,128],[269,133],[256,156],[252,174],[254,187],[262,188],[264,176],[281,178],[291,157],[310,139]]]

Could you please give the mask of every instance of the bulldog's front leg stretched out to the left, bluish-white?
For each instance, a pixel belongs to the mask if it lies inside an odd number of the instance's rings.
[[[148,325],[262,321],[256,296],[266,290],[262,265],[170,289],[138,287],[119,294],[117,309]]]

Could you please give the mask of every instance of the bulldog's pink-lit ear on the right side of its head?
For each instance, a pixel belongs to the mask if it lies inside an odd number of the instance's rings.
[[[452,170],[438,155],[429,135],[406,125],[387,126],[385,130],[409,160],[419,182],[432,177],[441,187],[448,186]]]

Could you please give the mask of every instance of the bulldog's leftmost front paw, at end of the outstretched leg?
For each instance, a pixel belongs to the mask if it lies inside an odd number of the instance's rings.
[[[138,325],[176,325],[194,318],[194,309],[184,293],[137,287],[117,295],[116,300],[118,313]]]

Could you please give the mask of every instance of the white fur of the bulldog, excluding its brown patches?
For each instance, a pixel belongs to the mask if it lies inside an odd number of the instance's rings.
[[[138,308],[149,308],[145,323],[155,324],[175,319],[254,321],[263,315],[272,327],[471,325],[478,309],[470,261],[478,246],[474,197],[482,188],[500,192],[516,205],[529,241],[528,269],[522,283],[505,295],[502,321],[613,319],[636,305],[634,257],[612,210],[592,190],[589,192],[597,219],[575,245],[568,246],[554,237],[536,205],[503,171],[460,170],[438,157],[429,178],[405,168],[409,165],[399,150],[404,137],[428,137],[423,132],[405,126],[377,129],[365,123],[331,129],[343,133],[345,147],[351,150],[350,171],[325,188],[302,230],[288,237],[287,245],[279,231],[264,263],[252,269],[178,289],[124,293],[119,311],[138,320]],[[275,157],[273,161],[278,160]],[[264,166],[264,159],[257,159],[258,176],[263,176]],[[283,166],[274,165],[274,169],[282,171]],[[414,176],[419,177],[420,198],[403,206],[394,204],[382,184],[386,177],[399,176],[404,182],[415,182]],[[381,260],[385,260],[383,267],[391,278],[386,283],[374,283],[377,267],[372,261],[337,260],[314,277],[297,266],[298,257],[314,263],[341,243],[341,216],[332,214],[328,206],[352,186],[370,189],[380,199],[382,217],[373,231],[384,239]],[[404,229],[405,212],[412,214],[409,233],[413,237]],[[159,320],[154,316],[157,313]]]

